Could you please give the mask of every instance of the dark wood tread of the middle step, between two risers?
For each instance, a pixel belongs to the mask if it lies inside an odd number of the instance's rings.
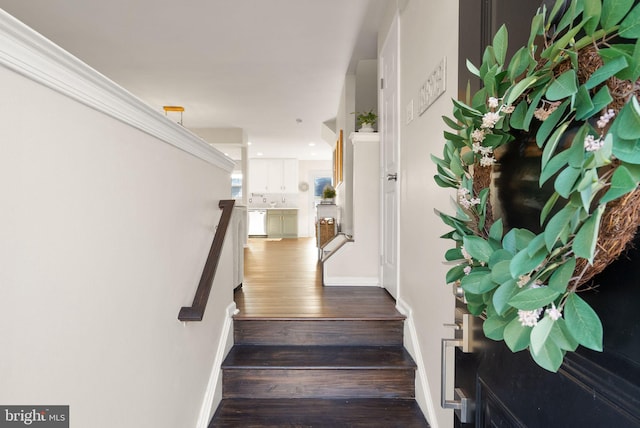
[[[415,369],[401,346],[235,345],[223,369]]]

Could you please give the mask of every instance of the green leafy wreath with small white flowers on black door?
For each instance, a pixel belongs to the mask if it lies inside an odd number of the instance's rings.
[[[617,258],[640,223],[640,5],[557,0],[534,16],[507,63],[502,27],[469,70],[483,88],[443,117],[438,185],[457,191],[447,283],[485,318],[488,338],[557,371],[578,345],[602,350],[602,323],[578,291]],[[523,137],[530,137],[529,142]],[[516,146],[514,146],[516,145]],[[515,148],[535,159],[539,228],[499,214],[495,176]],[[534,192],[535,193],[535,192]],[[534,204],[535,205],[535,204]],[[496,217],[494,219],[494,217]],[[517,219],[516,219],[517,220]],[[513,223],[510,225],[508,223]]]

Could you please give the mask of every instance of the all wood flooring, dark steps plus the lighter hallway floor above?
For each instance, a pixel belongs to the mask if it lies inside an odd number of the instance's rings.
[[[379,287],[323,287],[313,239],[250,239],[209,428],[428,428],[404,317]]]

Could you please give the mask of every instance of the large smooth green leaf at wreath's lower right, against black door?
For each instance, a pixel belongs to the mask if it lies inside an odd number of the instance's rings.
[[[564,306],[567,329],[582,346],[602,351],[602,323],[596,312],[576,293],[569,294]]]

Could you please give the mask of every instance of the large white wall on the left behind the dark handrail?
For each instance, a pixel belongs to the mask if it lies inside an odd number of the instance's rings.
[[[0,81],[0,403],[68,404],[75,427],[196,426],[228,245],[203,322],[177,315],[229,171],[2,66]]]

